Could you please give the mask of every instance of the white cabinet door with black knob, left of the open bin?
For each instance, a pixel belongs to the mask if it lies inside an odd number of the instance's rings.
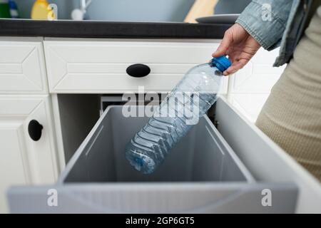
[[[48,96],[0,95],[0,213],[8,212],[11,185],[53,183],[58,175]],[[41,138],[30,138],[28,125],[37,120]]]

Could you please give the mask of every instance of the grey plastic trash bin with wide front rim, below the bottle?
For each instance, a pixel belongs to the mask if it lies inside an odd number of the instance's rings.
[[[121,105],[108,106],[56,185],[9,190],[11,212],[294,212],[296,186],[256,182],[207,116],[156,172],[134,170],[124,149],[147,120],[124,117]],[[47,204],[52,189],[58,207]],[[273,207],[263,206],[266,189],[272,190]]]

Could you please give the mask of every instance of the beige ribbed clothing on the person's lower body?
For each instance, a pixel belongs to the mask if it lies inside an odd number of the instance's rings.
[[[321,6],[256,125],[321,181]]]

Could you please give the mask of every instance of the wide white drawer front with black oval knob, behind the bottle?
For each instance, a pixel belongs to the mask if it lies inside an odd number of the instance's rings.
[[[171,90],[191,67],[208,62],[218,43],[139,41],[45,41],[52,93],[123,93]],[[128,76],[143,63],[151,73]],[[227,88],[227,78],[225,81]]]

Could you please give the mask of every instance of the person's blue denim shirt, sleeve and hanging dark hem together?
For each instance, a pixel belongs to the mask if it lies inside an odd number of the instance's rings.
[[[312,0],[253,0],[235,23],[243,26],[266,50],[280,46],[273,66],[282,66],[292,58],[311,4]]]

